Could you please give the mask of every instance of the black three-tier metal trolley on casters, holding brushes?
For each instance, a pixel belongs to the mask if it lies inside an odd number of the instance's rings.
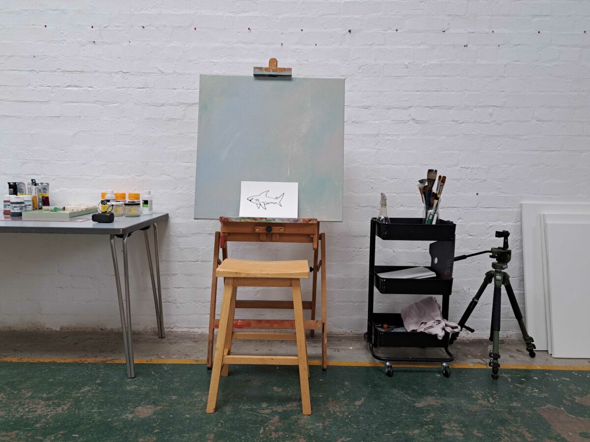
[[[453,259],[455,253],[455,224],[450,221],[438,220],[434,225],[425,225],[421,218],[389,218],[383,223],[376,218],[371,219],[371,246],[369,255],[369,299],[368,320],[365,340],[369,343],[373,358],[385,361],[385,372],[391,377],[391,362],[441,362],[442,374],[451,375],[448,362],[453,361],[453,354],[448,349],[451,334],[445,333],[442,339],[424,332],[399,332],[392,329],[403,326],[399,313],[376,313],[373,311],[373,292],[392,295],[441,295],[442,317],[448,319],[448,304],[453,289]],[[411,266],[376,266],[375,238],[398,241],[431,241],[430,268],[436,273],[427,279],[395,279],[382,278],[379,273],[410,268]],[[378,347],[418,347],[443,348],[446,358],[425,357],[389,357],[379,355]]]

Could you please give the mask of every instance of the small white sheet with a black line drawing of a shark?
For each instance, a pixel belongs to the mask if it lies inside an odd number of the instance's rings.
[[[240,216],[296,218],[297,183],[242,181]]]

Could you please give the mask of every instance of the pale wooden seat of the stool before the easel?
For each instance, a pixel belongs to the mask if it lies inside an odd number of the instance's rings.
[[[224,259],[215,271],[226,278],[309,278],[309,263],[297,261],[249,261]]]

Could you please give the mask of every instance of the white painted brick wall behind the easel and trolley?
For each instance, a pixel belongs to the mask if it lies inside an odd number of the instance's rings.
[[[512,232],[523,305],[520,200],[583,198],[590,185],[589,19],[587,0],[4,2],[0,183],[48,181],[55,203],[151,189],[171,216],[160,230],[166,326],[203,330],[218,223],[192,219],[199,74],[250,75],[277,57],[298,76],[346,77],[345,222],[324,226],[330,330],[365,328],[379,192],[390,216],[417,216],[429,167],[448,177],[457,253]],[[1,327],[119,326],[107,238],[0,244]],[[130,246],[133,326],[153,328],[142,238]],[[414,246],[380,259],[424,263]],[[304,246],[261,249],[231,255],[311,259]],[[451,319],[489,268],[486,255],[457,263]],[[409,300],[379,298],[396,310]],[[490,304],[491,289],[470,322],[483,334]],[[507,302],[502,314],[504,332],[517,330]]]

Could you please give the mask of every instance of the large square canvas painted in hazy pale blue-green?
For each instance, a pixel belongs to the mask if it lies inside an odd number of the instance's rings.
[[[299,183],[299,217],[342,221],[344,80],[201,75],[195,219],[238,216],[242,181]]]

